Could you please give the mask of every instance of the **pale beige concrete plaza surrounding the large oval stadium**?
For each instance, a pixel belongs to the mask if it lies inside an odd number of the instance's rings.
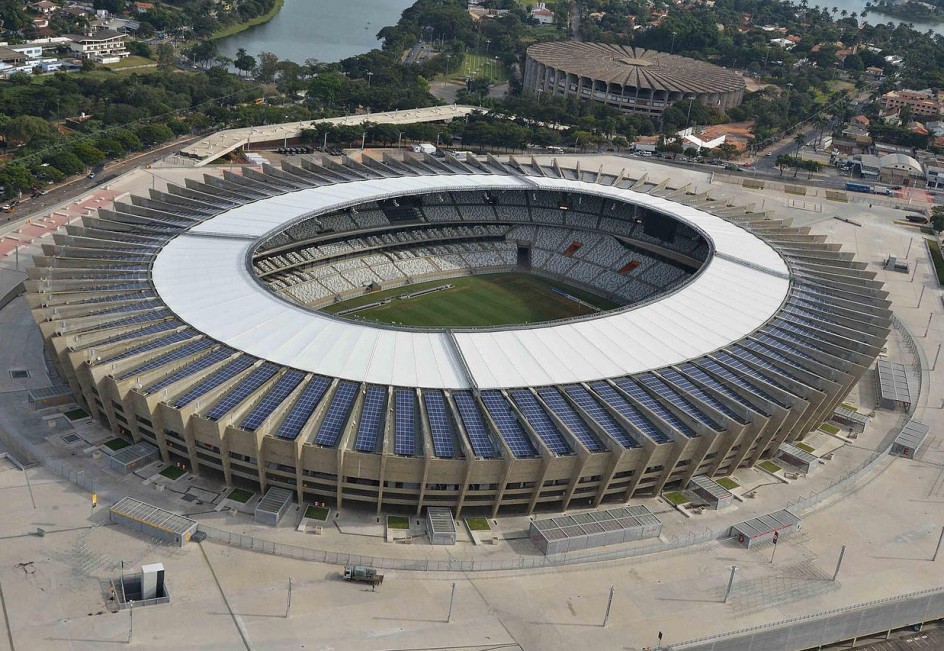
[[[880,459],[848,491],[801,513],[802,528],[776,549],[745,550],[714,532],[770,513],[827,489],[857,471],[889,445],[901,426],[900,412],[877,408],[874,374],[867,373],[846,402],[874,411],[865,433],[843,440],[817,433],[808,442],[832,458],[809,476],[781,481],[754,468],[734,477],[742,499],[720,512],[686,517],[661,498],[646,504],[663,522],[662,541],[679,549],[590,564],[535,570],[416,572],[383,570],[382,587],[340,580],[338,565],[281,558],[212,542],[168,546],[108,522],[112,500],[131,496],[188,515],[223,532],[260,540],[391,559],[502,562],[537,559],[527,539],[530,519],[499,518],[499,541],[475,545],[460,527],[458,543],[431,546],[414,537],[411,545],[388,543],[382,521],[372,511],[335,514],[320,535],[295,530],[301,516],[290,510],[277,527],[255,525],[251,515],[224,506],[227,491],[215,478],[185,475],[176,481],[155,477],[163,464],[128,476],[108,469],[93,450],[110,438],[97,424],[70,422],[58,410],[34,411],[29,389],[49,386],[41,337],[25,300],[0,310],[0,431],[25,440],[51,466],[95,478],[99,493],[93,508],[88,490],[49,468],[21,470],[0,459],[0,651],[32,649],[107,649],[134,647],[201,649],[626,649],[640,651],[755,625],[842,608],[871,600],[944,585],[944,555],[931,558],[944,526],[944,436],[941,435],[944,361],[944,303],[923,235],[903,222],[891,205],[838,203],[810,189],[797,207],[796,197],[779,189],[751,190],[701,171],[680,170],[621,157],[588,157],[584,168],[599,165],[631,175],[644,168],[650,179],[669,176],[673,185],[709,191],[718,199],[754,204],[772,217],[791,217],[854,251],[885,282],[895,314],[917,342],[917,359],[898,330],[887,346],[889,359],[901,361],[921,386],[914,417],[931,427],[916,459]],[[185,176],[219,174],[216,169],[138,170],[116,179],[78,202],[53,211],[79,218],[89,207],[104,206],[127,193],[162,188]],[[837,219],[839,217],[840,219]],[[46,222],[52,224],[53,222]],[[63,222],[64,223],[64,222]],[[11,226],[14,231],[16,227]],[[52,226],[46,229],[51,232]],[[17,245],[20,267],[40,252],[48,234],[36,230]],[[45,237],[44,237],[45,236]],[[0,274],[15,267],[9,247],[0,250]],[[889,255],[907,259],[910,272],[886,271]],[[938,364],[942,368],[937,368]],[[920,373],[915,372],[915,365]],[[14,379],[9,370],[29,371]],[[2,445],[2,444],[0,444]],[[0,447],[0,456],[3,448]],[[11,446],[11,451],[12,446]],[[756,491],[753,498],[744,497]],[[294,507],[293,507],[294,508]],[[580,509],[571,510],[573,514]],[[539,514],[544,517],[550,514]],[[335,517],[336,516],[336,517]],[[413,523],[416,518],[413,517]],[[43,535],[38,535],[41,529]],[[651,543],[651,541],[650,541]],[[646,541],[628,543],[646,545]],[[845,555],[833,580],[840,548]],[[771,558],[773,557],[773,562]],[[171,603],[117,611],[107,582],[125,569],[163,563]],[[737,571],[723,602],[731,567]],[[291,606],[289,579],[292,578]],[[455,585],[451,621],[450,595]],[[602,626],[610,586],[611,615]],[[133,630],[132,630],[133,628]]]

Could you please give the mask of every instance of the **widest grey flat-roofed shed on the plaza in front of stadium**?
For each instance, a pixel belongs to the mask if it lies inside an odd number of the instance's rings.
[[[662,522],[643,505],[562,515],[531,523],[535,546],[550,556],[565,552],[657,538]]]

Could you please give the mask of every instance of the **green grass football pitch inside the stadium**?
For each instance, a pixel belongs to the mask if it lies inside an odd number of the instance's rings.
[[[431,287],[453,285],[450,289],[400,299],[407,293]],[[408,287],[373,292],[323,308],[332,314],[391,298],[389,303],[349,312],[358,321],[395,323],[405,326],[459,328],[552,321],[593,314],[597,310],[555,293],[564,291],[597,308],[618,307],[589,292],[528,273],[462,276]]]

